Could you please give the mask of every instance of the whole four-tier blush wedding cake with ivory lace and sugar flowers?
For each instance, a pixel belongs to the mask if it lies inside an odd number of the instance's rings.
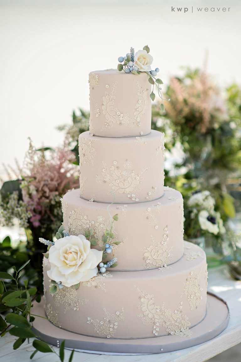
[[[100,342],[186,339],[206,316],[206,255],[183,241],[182,195],[164,186],[164,134],[151,130],[156,71],[121,70],[89,74],[80,188],[63,196],[62,235],[43,261],[45,311]]]

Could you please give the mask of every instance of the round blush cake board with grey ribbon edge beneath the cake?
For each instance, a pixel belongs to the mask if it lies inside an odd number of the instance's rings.
[[[35,315],[45,317],[43,302],[34,302],[32,312]],[[75,349],[80,352],[118,355],[153,354],[172,352],[207,342],[223,332],[228,325],[228,321],[229,309],[227,303],[208,292],[206,317],[198,325],[191,328],[193,332],[191,338],[176,335],[138,339],[88,337],[64,331],[64,329],[55,327],[47,319],[38,317],[34,321],[33,330],[39,339],[49,344],[59,346],[65,340],[65,348]]]

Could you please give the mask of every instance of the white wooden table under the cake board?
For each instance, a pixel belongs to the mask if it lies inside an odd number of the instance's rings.
[[[241,282],[232,280],[223,266],[211,269],[208,273],[208,290],[219,295],[228,302],[231,318],[227,329],[218,337],[204,344],[176,352],[153,355],[99,355],[75,352],[73,362],[204,362],[211,357],[235,346],[241,342]],[[34,348],[29,344],[13,350],[13,336],[0,339],[1,362],[27,362]],[[54,347],[57,350],[56,347]],[[68,361],[71,351],[65,350],[65,361]],[[54,353],[38,352],[33,361],[57,362]]]

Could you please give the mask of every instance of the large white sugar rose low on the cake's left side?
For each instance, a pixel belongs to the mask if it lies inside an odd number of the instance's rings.
[[[49,249],[48,277],[66,287],[86,282],[97,275],[102,254],[90,249],[90,241],[84,235],[62,237]]]

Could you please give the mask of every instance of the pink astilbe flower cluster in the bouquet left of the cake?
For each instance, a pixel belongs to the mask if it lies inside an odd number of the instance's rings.
[[[62,221],[60,198],[79,185],[73,153],[64,145],[55,150],[36,151],[30,140],[22,170],[23,201],[31,212],[34,227],[58,228]]]

